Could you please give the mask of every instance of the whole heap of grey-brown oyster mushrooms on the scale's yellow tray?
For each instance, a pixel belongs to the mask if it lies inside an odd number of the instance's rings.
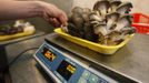
[[[105,45],[117,45],[136,32],[129,14],[131,2],[99,0],[93,9],[74,7],[66,32]]]

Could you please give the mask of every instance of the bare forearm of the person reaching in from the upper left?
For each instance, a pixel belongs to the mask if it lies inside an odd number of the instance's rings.
[[[38,1],[0,1],[0,20],[22,19],[42,15]]]

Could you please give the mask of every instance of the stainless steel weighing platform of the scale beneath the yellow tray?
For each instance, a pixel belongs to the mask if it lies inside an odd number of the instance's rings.
[[[112,55],[103,55],[77,45],[56,33],[47,35],[47,39],[97,64],[106,65],[143,83],[149,82],[149,35],[136,34],[127,45]]]

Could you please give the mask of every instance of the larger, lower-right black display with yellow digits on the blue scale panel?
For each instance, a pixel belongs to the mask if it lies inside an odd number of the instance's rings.
[[[69,80],[71,75],[76,72],[76,66],[63,60],[57,69],[57,72],[64,79]]]

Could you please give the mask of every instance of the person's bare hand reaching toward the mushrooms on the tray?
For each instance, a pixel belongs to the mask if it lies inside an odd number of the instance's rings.
[[[47,2],[40,2],[42,9],[42,18],[49,21],[54,27],[60,27],[67,23],[67,14],[56,6]]]

